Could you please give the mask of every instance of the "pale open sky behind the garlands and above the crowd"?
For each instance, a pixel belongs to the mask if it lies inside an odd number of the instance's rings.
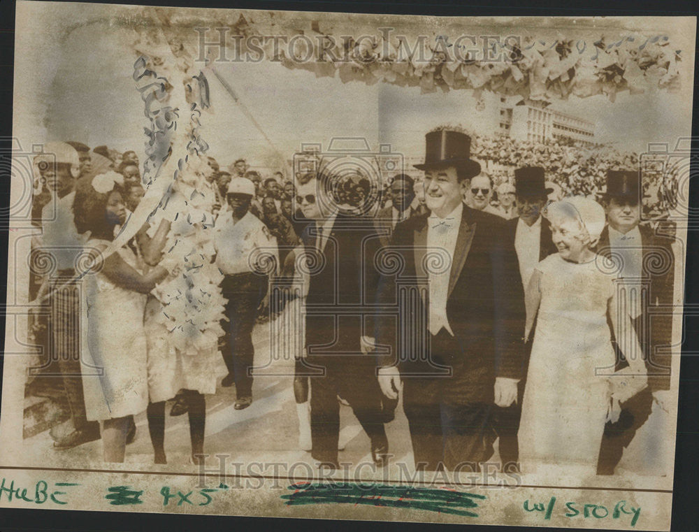
[[[133,37],[130,30],[105,32],[95,24],[75,29],[58,46],[54,42],[51,50],[42,52],[41,60],[53,69],[47,69],[48,76],[36,76],[43,92],[33,94],[43,95],[43,113],[20,118],[34,138],[136,150],[143,160],[147,119],[131,78],[136,57],[124,52]],[[271,62],[215,68],[240,102],[208,72],[212,112],[203,116],[201,134],[210,154],[222,164],[246,157],[253,166],[266,166],[275,153],[290,159],[302,143],[320,143],[325,150],[331,138],[345,136],[364,137],[373,149],[390,143],[394,151],[421,157],[424,134],[433,127],[451,123],[478,128],[470,90],[420,94],[419,87],[343,84],[339,78],[317,78]],[[273,147],[241,104],[267,132]],[[691,116],[691,101],[668,92],[624,92],[614,103],[601,95],[571,97],[552,105],[596,122],[598,141],[633,150],[643,150],[648,142],[674,144],[678,121]]]

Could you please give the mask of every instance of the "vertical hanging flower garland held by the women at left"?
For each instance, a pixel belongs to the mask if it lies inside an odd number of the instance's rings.
[[[213,264],[215,185],[199,133],[202,109],[209,106],[208,82],[178,53],[182,48],[166,43],[157,30],[142,31],[134,48],[140,54],[134,79],[150,120],[144,172],[149,186],[142,202],[159,200],[147,216],[148,233],[153,236],[161,220],[171,224],[159,262],[169,275],[152,291],[163,305],[157,322],[171,347],[194,356],[217,350],[226,303],[219,287],[223,275]],[[166,59],[173,56],[174,66]]]

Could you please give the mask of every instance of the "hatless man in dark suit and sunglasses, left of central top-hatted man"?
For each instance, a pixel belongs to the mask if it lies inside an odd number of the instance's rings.
[[[373,331],[377,285],[373,259],[379,239],[373,220],[340,212],[331,199],[331,180],[331,175],[306,176],[298,182],[296,196],[310,220],[301,240],[310,257],[302,364],[310,375],[311,455],[338,468],[340,396],[369,436],[373,460],[383,466],[388,440],[382,394],[375,359],[362,342]]]

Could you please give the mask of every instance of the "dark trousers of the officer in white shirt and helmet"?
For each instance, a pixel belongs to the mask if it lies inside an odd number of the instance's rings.
[[[252,395],[254,359],[252,327],[257,318],[257,308],[267,291],[267,278],[254,273],[226,275],[221,283],[226,303],[228,322],[222,321],[225,331],[219,347],[226,367],[236,382],[238,398]]]

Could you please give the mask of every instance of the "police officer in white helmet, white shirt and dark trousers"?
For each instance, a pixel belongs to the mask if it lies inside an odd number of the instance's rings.
[[[226,193],[229,210],[219,214],[214,236],[216,264],[224,274],[221,287],[228,299],[226,317],[229,319],[223,322],[226,334],[222,341],[222,355],[229,374],[221,384],[229,387],[236,383],[236,410],[243,410],[252,403],[252,327],[267,292],[264,273],[275,273],[279,264],[275,238],[265,224],[249,212],[254,194],[255,185],[251,180],[231,179]]]

